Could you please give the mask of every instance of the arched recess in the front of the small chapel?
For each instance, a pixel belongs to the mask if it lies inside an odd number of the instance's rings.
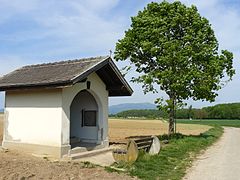
[[[70,106],[71,147],[98,140],[98,104],[87,90],[80,91]]]

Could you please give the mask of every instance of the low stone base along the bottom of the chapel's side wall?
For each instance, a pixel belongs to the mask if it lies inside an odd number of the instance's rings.
[[[20,142],[12,142],[12,141],[3,141],[2,147],[18,150],[29,154],[36,155],[48,155],[54,158],[62,158],[63,155],[68,154],[68,151],[71,149],[70,145],[63,145],[61,147],[56,146],[45,146],[38,144],[27,144]]]

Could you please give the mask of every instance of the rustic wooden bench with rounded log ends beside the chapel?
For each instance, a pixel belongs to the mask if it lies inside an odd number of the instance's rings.
[[[112,154],[116,162],[133,163],[137,160],[140,150],[157,154],[160,151],[160,142],[156,136],[130,139],[123,149],[114,149]]]

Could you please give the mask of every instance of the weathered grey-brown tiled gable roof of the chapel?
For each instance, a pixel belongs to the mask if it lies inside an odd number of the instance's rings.
[[[112,70],[109,70],[109,67],[106,68],[106,66],[109,65],[112,67],[110,68]],[[121,82],[121,85],[125,86],[130,94],[132,93],[130,86],[108,56],[24,66],[0,78],[0,90],[6,91],[30,87],[59,87],[73,85],[86,78],[92,72],[99,73],[101,78],[105,78],[108,73],[102,69],[103,67],[105,67],[104,69],[106,70],[108,69],[109,73],[112,73],[110,71],[114,71],[115,78],[118,77],[118,79],[112,80],[110,78],[112,83],[114,83],[114,81]],[[109,81],[102,80],[105,83],[109,83]],[[115,85],[119,86],[120,84],[118,83]]]

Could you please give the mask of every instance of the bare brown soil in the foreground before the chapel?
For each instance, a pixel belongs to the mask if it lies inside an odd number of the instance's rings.
[[[80,162],[48,161],[19,152],[0,150],[0,179],[131,180],[125,174],[109,173],[102,167]]]

